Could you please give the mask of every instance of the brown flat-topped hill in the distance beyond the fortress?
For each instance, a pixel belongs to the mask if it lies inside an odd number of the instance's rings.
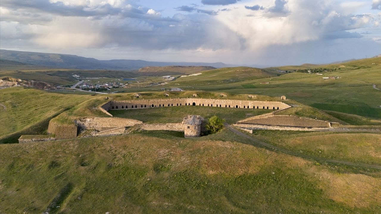
[[[165,67],[143,67],[138,70],[141,76],[160,76],[160,75],[184,75],[202,72],[204,70],[216,69],[211,66],[165,66]]]

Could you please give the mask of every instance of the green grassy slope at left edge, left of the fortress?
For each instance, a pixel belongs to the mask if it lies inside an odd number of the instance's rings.
[[[93,97],[48,93],[21,87],[0,90],[0,139],[27,129]],[[39,125],[40,126],[40,125]]]

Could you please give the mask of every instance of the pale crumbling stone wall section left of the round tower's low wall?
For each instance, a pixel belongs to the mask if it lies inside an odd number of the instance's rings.
[[[95,117],[76,120],[75,123],[81,129],[95,129],[97,131],[104,131],[105,129],[134,126],[136,124],[142,124],[143,122],[127,118]]]

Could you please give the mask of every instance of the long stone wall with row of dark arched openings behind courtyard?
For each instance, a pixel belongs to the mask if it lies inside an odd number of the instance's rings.
[[[139,99],[128,101],[109,101],[101,106],[103,112],[120,109],[144,109],[154,107],[199,105],[223,108],[243,108],[243,109],[272,109],[282,110],[290,108],[283,102],[278,101],[244,101],[229,99],[202,99],[202,98],[175,98],[175,99]],[[110,114],[109,114],[110,115]]]

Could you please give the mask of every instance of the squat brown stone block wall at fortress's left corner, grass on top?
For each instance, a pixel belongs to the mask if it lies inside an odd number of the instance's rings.
[[[48,126],[48,134],[54,134],[56,139],[75,138],[78,134],[78,127],[73,124],[58,124],[50,121]]]

